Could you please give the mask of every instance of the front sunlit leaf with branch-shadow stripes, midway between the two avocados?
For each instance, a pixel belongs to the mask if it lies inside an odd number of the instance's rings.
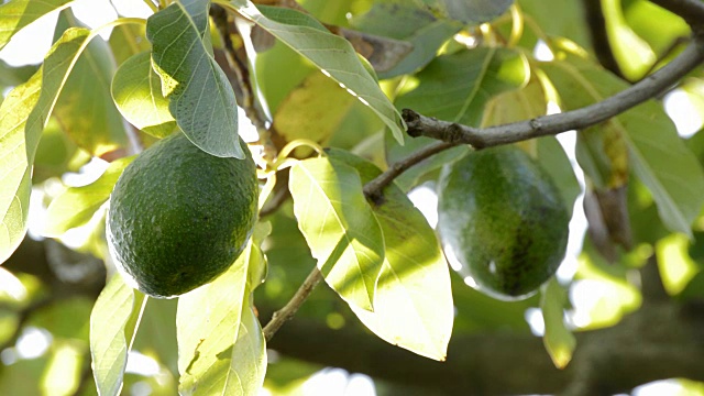
[[[326,157],[290,169],[294,213],[326,282],[350,306],[373,310],[384,238],[362,193],[360,175]]]

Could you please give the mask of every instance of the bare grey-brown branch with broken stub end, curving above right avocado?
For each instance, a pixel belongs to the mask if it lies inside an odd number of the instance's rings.
[[[584,129],[618,116],[661,94],[703,61],[704,38],[695,35],[692,43],[671,63],[607,99],[582,109],[504,125],[485,129],[472,128],[429,118],[410,109],[404,109],[403,117],[408,124],[408,134],[411,136],[428,136],[453,144],[465,143],[477,150],[516,143],[574,129]]]

